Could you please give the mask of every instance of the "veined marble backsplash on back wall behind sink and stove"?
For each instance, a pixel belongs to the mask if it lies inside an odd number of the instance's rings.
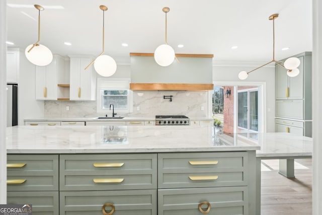
[[[164,96],[173,96],[172,102]],[[69,106],[69,110],[66,110]],[[99,117],[111,113],[97,113],[96,101],[45,101],[45,117]],[[137,110],[139,107],[139,110]],[[201,107],[204,110],[201,110]],[[117,112],[117,110],[115,111]],[[122,116],[150,117],[155,115],[208,116],[208,92],[193,91],[134,91],[133,112]]]

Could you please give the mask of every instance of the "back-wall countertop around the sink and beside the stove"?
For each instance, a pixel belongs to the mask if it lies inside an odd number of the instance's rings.
[[[102,115],[103,117],[104,115]],[[123,117],[122,115],[117,117]],[[146,116],[146,117],[133,117],[125,116],[122,119],[98,119],[98,117],[36,117],[36,118],[27,118],[25,121],[154,121],[155,116]],[[208,117],[189,117],[190,120],[196,121],[211,121],[212,118]]]

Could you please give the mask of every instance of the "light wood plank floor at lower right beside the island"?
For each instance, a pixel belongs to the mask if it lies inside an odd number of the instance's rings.
[[[261,214],[312,214],[312,160],[295,159],[295,178],[278,173],[278,160],[262,160]]]

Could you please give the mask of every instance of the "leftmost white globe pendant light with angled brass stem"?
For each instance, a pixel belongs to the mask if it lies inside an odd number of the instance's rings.
[[[38,41],[35,44],[27,46],[25,50],[25,55],[27,59],[35,65],[45,66],[51,63],[52,53],[44,45],[39,44],[40,41],[40,11],[43,11],[44,8],[40,5],[34,5],[34,7],[39,11],[38,15]]]

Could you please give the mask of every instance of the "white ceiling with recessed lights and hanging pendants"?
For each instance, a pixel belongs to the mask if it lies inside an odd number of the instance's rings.
[[[7,0],[8,41],[25,49],[38,39],[53,53],[91,54],[102,51],[105,12],[105,54],[118,63],[129,62],[130,52],[154,52],[165,43],[164,7],[169,7],[168,44],[176,53],[214,54],[216,61],[270,61],[312,50],[311,0]],[[62,6],[63,9],[50,9]],[[28,15],[28,16],[27,16]],[[71,46],[64,45],[70,42]],[[121,46],[127,43],[127,47]],[[178,48],[183,44],[183,48]],[[231,49],[231,46],[238,46]],[[288,50],[282,51],[284,47]]]

